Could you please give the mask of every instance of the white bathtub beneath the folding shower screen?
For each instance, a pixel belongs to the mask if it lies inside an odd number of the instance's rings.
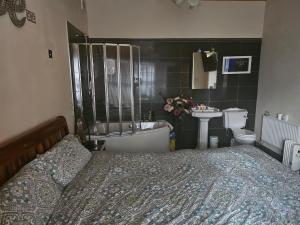
[[[109,135],[106,124],[96,124],[96,134],[91,140],[105,140],[105,149],[110,152],[168,152],[172,125],[167,121],[137,123],[132,133],[132,123],[122,123],[122,135],[119,123],[109,123]]]

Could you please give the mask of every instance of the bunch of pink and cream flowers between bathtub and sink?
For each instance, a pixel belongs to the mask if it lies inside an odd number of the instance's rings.
[[[175,98],[167,98],[164,105],[164,110],[172,113],[176,118],[180,118],[184,114],[189,114],[193,106],[194,103],[192,98],[178,96]]]

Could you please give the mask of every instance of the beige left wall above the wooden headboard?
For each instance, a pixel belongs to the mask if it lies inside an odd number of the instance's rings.
[[[0,142],[57,115],[73,128],[66,22],[87,32],[86,13],[79,0],[26,2],[37,24],[0,17]]]

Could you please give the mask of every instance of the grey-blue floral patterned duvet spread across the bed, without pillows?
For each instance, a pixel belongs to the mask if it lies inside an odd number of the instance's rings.
[[[252,146],[95,153],[53,225],[300,224],[300,176]]]

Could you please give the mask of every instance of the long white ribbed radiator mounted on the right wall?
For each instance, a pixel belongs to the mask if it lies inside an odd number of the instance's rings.
[[[278,120],[272,116],[264,116],[261,144],[282,155],[285,140],[293,140],[296,143],[300,143],[300,126]]]

